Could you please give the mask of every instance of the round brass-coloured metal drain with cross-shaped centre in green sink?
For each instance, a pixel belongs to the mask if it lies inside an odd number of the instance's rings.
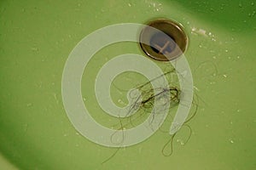
[[[176,59],[183,54],[187,43],[188,37],[182,26],[172,20],[151,21],[140,35],[140,46],[144,53],[162,61]]]

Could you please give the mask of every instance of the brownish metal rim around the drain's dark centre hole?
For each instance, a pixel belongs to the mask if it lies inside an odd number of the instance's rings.
[[[149,57],[161,61],[168,61],[172,59],[176,59],[178,56],[182,55],[187,47],[188,47],[188,36],[186,35],[185,31],[183,30],[183,26],[176,21],[167,20],[167,19],[157,19],[149,21],[147,26],[143,28],[143,31],[140,33],[139,37],[139,44],[140,47],[143,49],[143,52],[147,54]],[[169,37],[173,38],[173,41],[176,43],[176,48],[170,54],[158,54],[154,51],[151,46],[148,46],[145,43],[143,38],[148,38],[148,27],[155,28],[160,31],[166,33]],[[154,35],[149,35],[150,38],[154,37]]]

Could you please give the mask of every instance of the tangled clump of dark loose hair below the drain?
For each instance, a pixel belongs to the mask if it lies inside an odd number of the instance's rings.
[[[154,79],[145,82],[141,85],[138,85],[136,88],[134,88],[134,90],[139,90],[141,92],[140,95],[138,95],[133,101],[133,103],[130,105],[129,107],[129,111],[127,112],[126,116],[123,118],[119,117],[119,123],[117,123],[116,125],[114,125],[113,127],[119,126],[116,130],[115,133],[113,133],[111,135],[111,141],[115,141],[113,140],[115,135],[119,135],[120,140],[119,140],[119,144],[122,144],[122,142],[125,139],[125,135],[124,135],[124,129],[129,128],[129,127],[136,127],[137,125],[137,120],[142,119],[143,116],[148,116],[148,113],[150,113],[153,108],[154,108],[154,99],[163,99],[163,103],[162,103],[162,109],[166,110],[166,109],[170,109],[173,108],[174,106],[178,105],[180,103],[180,95],[182,90],[180,88],[178,88],[178,86],[173,85],[172,82],[172,78],[169,81],[169,84],[166,85],[166,88],[158,88],[158,89],[154,89],[151,86],[151,82],[157,81],[159,80],[161,77],[168,77],[170,75],[176,74],[177,72],[175,71],[175,69],[171,69],[170,71],[166,71],[164,74],[160,75],[159,77],[155,77]],[[168,78],[167,78],[168,79]],[[170,79],[170,78],[169,78]],[[117,87],[116,87],[117,88]],[[157,91],[157,93],[155,94],[155,90]],[[130,91],[130,93],[132,93],[132,90]],[[170,95],[166,95],[167,93],[169,93]],[[168,97],[168,99],[167,99]],[[170,108],[165,108],[165,105],[169,103],[172,104]],[[189,141],[190,137],[191,137],[191,133],[192,133],[192,129],[191,127],[189,127],[189,125],[187,124],[194,116],[195,113],[197,111],[197,104],[196,104],[196,100],[194,100],[193,102],[195,104],[195,111],[193,111],[192,114],[190,114],[191,116],[189,116],[189,118],[184,122],[183,127],[187,127],[189,128],[189,137],[188,139],[185,141],[185,144]],[[132,111],[136,111],[138,114],[133,114],[131,115]],[[154,119],[154,111],[152,112],[152,117],[151,117],[151,122]],[[159,113],[159,111],[158,111]],[[128,119],[128,121],[126,121],[124,123],[124,120]],[[168,131],[164,131],[160,128],[160,132],[163,133],[169,133]],[[170,134],[168,134],[170,135]],[[170,136],[170,139],[167,140],[166,144],[164,144],[161,152],[163,154],[163,156],[171,156],[172,155],[172,151],[173,151],[173,139],[175,138],[176,133],[172,134]],[[115,156],[117,154],[117,152],[120,150],[121,147],[119,147],[118,149],[116,149],[113,152],[113,155],[109,156],[107,160],[103,161],[102,163],[105,163],[109,160],[111,160],[113,158],[113,156]],[[169,148],[169,151],[168,151]]]

